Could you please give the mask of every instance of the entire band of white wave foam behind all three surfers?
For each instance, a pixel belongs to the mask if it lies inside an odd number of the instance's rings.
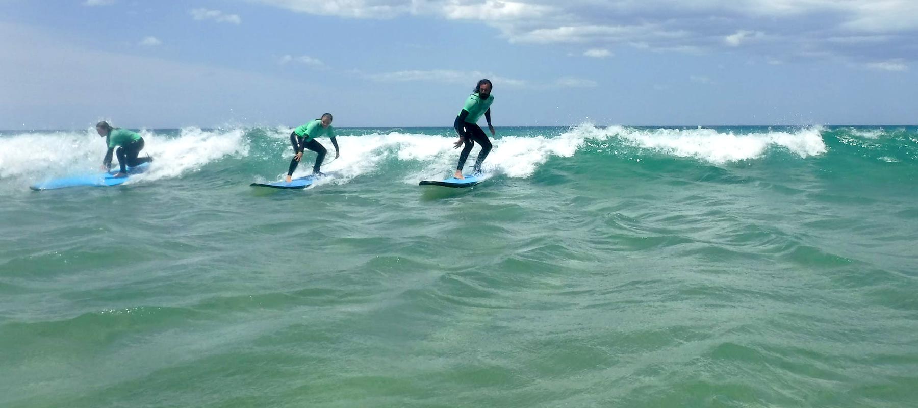
[[[500,129],[498,128],[498,132]],[[712,164],[725,164],[763,156],[769,149],[786,149],[800,157],[825,153],[822,128],[803,128],[794,131],[764,131],[734,134],[712,129],[635,129],[621,126],[599,128],[591,123],[557,134],[557,130],[544,130],[545,134],[529,136],[501,136],[493,138],[494,149],[487,157],[484,170],[492,175],[524,178],[532,176],[539,166],[552,157],[572,157],[588,142],[600,142],[599,151],[616,152],[621,147],[637,148],[678,157],[691,157]],[[252,141],[253,146],[263,142],[275,146],[256,161],[278,163],[275,179],[285,176],[291,150],[290,129],[277,128],[265,131],[265,139]],[[132,177],[129,183],[142,183],[160,178],[183,176],[231,155],[248,156],[250,143],[245,131],[200,130],[186,128],[177,136],[142,130],[146,148],[155,161],[147,174]],[[334,148],[328,139],[320,139],[329,149],[323,172],[336,176],[326,178],[321,184],[343,184],[357,176],[375,175],[397,177],[406,183],[420,179],[451,176],[459,150],[453,149],[455,137],[410,133],[404,130],[351,136],[339,131],[341,157],[334,157]],[[596,143],[589,143],[595,146]],[[603,145],[605,144],[605,145]],[[263,151],[261,147],[257,149]],[[476,146],[465,164],[471,170],[480,147]],[[597,153],[596,150],[591,153]],[[72,132],[26,133],[0,138],[0,177],[21,177],[35,181],[42,177],[63,176],[97,171],[105,154],[105,144],[95,134],[95,129]],[[307,155],[294,176],[305,176],[312,171],[314,155]],[[330,161],[330,162],[329,162]],[[384,163],[396,162],[392,167]],[[380,172],[397,172],[385,175]],[[241,169],[241,171],[244,171]]]

